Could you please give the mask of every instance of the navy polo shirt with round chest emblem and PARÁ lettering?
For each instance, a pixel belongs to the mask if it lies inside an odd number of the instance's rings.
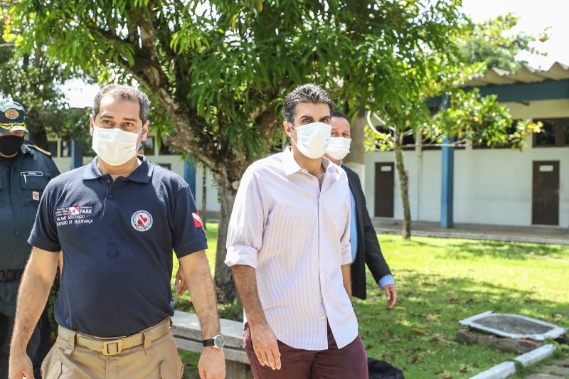
[[[127,178],[91,164],[48,183],[28,242],[63,250],[55,320],[93,336],[129,336],[174,314],[172,250],[207,248],[188,184],[142,164]]]

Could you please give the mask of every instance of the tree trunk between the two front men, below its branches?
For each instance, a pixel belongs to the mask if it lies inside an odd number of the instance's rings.
[[[218,229],[218,248],[216,251],[216,294],[220,303],[233,301],[237,295],[235,282],[231,269],[225,265],[225,255],[227,255],[227,230],[235,195],[237,194],[238,182],[231,183],[227,176],[214,174],[219,184],[219,197],[221,202],[221,212],[219,215]]]

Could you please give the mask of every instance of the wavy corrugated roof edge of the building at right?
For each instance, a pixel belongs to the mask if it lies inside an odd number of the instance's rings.
[[[555,62],[549,70],[536,70],[522,65],[516,73],[499,68],[491,68],[466,82],[466,87],[485,87],[487,85],[512,85],[521,83],[546,82],[548,80],[569,80],[569,66]]]

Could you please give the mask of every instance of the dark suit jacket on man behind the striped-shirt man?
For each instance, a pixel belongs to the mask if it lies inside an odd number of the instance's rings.
[[[366,208],[366,197],[361,189],[360,178],[348,167],[342,165],[342,169],[348,175],[353,200],[356,201],[356,220],[358,223],[358,250],[356,260],[351,265],[351,293],[355,297],[366,299],[366,265],[368,265],[376,283],[385,275],[390,275],[391,272],[383,254],[381,254],[378,236],[371,223],[368,208]]]

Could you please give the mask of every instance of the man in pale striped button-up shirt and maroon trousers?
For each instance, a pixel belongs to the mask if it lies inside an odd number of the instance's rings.
[[[256,378],[368,378],[351,306],[348,180],[323,157],[332,105],[317,85],[289,93],[292,146],[252,164],[235,198],[225,263]]]

